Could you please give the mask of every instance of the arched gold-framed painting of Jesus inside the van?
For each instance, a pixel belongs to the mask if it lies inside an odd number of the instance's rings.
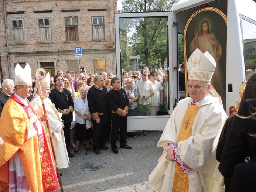
[[[207,25],[206,31],[204,31],[205,25]],[[216,61],[215,77],[213,77],[215,79],[211,83],[217,87],[216,91],[222,98],[223,107],[226,103],[226,31],[227,16],[225,13],[218,8],[206,7],[191,15],[185,25],[183,36],[186,87],[188,58],[196,48],[203,53],[208,51]],[[217,79],[222,82],[219,83]],[[185,91],[185,97],[188,97],[188,89]]]

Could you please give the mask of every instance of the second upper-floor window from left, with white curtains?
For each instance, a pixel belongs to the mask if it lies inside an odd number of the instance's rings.
[[[38,18],[39,42],[51,42],[50,18]]]

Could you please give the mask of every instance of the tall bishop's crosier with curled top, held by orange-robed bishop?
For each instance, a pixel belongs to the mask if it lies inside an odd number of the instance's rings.
[[[43,76],[41,76],[39,73],[42,72]],[[44,110],[44,114],[47,114],[46,110],[45,110],[45,105],[44,105],[44,95],[42,94],[42,88],[41,88],[41,81],[40,78],[43,79],[46,76],[46,71],[43,68],[39,68],[37,69],[35,75],[38,78],[38,82],[39,82],[39,88],[40,88],[40,99],[42,101],[42,107]],[[52,154],[54,157],[54,161],[55,161],[55,165],[56,165],[56,169],[57,169],[57,174],[58,174],[58,179],[59,179],[59,185],[61,187],[61,192],[64,192],[63,190],[63,186],[62,186],[62,182],[61,182],[61,175],[59,174],[59,168],[58,168],[58,164],[57,164],[57,158],[56,158],[56,154],[55,154],[55,150],[54,150],[54,146],[53,146],[53,142],[52,142],[52,137],[51,137],[51,131],[50,131],[50,126],[49,126],[49,122],[46,122],[46,126],[47,126],[47,130],[48,130],[48,134],[49,134],[49,138],[50,138],[50,143],[51,143],[51,148],[52,148]]]

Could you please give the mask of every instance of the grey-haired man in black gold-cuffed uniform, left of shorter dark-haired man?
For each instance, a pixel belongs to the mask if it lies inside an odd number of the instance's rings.
[[[107,102],[107,88],[102,75],[94,77],[94,85],[88,90],[88,107],[93,124],[93,150],[100,154],[100,149],[109,149],[105,145],[110,127],[110,106]]]

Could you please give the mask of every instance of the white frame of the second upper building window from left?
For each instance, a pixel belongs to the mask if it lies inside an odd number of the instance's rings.
[[[49,25],[45,25],[45,20],[49,20]],[[39,25],[39,20],[43,20],[43,25]],[[51,42],[51,19],[49,17],[46,18],[38,18],[37,19],[38,22],[38,40],[39,42]],[[44,33],[44,34],[41,34]],[[44,37],[44,39],[42,39],[41,37]],[[45,38],[47,35],[47,39]]]

